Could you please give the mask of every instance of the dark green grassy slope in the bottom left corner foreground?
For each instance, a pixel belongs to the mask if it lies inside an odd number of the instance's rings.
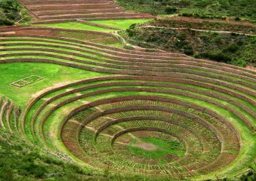
[[[91,169],[31,147],[20,136],[0,130],[0,180],[104,180],[90,177],[93,174]]]

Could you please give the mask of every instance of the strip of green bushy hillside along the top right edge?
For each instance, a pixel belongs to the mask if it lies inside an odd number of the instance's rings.
[[[256,1],[241,0],[118,0],[118,3],[129,10],[150,12],[153,15],[170,15],[177,13],[197,18],[237,17],[256,20]]]

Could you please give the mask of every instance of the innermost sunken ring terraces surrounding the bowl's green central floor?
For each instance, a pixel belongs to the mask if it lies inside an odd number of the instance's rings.
[[[106,101],[110,103],[96,104],[93,108],[78,112],[61,131],[61,138],[67,148],[92,165],[104,168],[105,164],[109,164],[116,172],[127,174],[135,172],[190,177],[197,172],[213,172],[219,166],[225,166],[239,152],[238,138],[225,123],[184,106],[183,102],[173,104],[176,101],[172,99],[151,96],[118,97]],[[88,111],[91,111],[89,118]],[[78,131],[81,129],[80,134],[74,131],[74,127],[78,127]],[[164,155],[159,160],[130,153],[129,144],[138,139],[143,147],[140,139],[143,140],[145,136],[167,139],[169,142],[178,141],[186,151],[177,152],[174,149],[173,154]],[[75,137],[79,139],[83,152],[73,142]],[[147,147],[149,150],[157,149],[154,145],[145,145],[144,149]],[[214,164],[215,161],[219,166]]]

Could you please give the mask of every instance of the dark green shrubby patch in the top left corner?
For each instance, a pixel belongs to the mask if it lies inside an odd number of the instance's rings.
[[[29,12],[17,0],[0,1],[0,26],[13,26],[29,22]]]

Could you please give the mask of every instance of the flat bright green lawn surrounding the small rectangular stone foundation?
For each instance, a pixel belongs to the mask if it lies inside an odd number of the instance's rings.
[[[105,75],[97,72],[75,69],[67,66],[59,66],[48,63],[6,63],[0,64],[0,92],[9,97],[20,107],[25,107],[30,96],[37,91],[59,82],[69,82],[81,80],[87,77]],[[43,77],[43,80],[26,85],[23,88],[17,88],[11,85],[12,82],[21,80],[31,75]]]

